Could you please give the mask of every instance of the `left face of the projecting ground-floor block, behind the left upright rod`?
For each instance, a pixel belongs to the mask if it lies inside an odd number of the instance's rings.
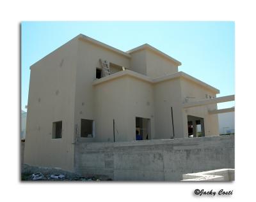
[[[113,141],[113,119],[115,119],[115,140],[127,140],[127,79],[95,86],[95,141]]]

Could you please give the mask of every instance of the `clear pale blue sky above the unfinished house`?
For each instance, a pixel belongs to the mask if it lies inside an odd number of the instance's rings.
[[[234,22],[22,22],[21,108],[29,66],[80,33],[123,51],[148,43],[182,62],[179,71],[220,89],[218,97],[234,94],[234,29]]]

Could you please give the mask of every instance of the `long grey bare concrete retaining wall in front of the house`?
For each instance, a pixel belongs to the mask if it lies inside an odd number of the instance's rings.
[[[234,168],[234,136],[77,143],[75,170],[113,180],[182,180],[182,174]]]

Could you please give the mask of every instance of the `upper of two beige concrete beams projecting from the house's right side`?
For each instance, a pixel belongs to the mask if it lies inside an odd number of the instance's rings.
[[[202,99],[198,101],[190,101],[188,103],[184,103],[182,106],[183,108],[190,108],[190,107],[195,107],[195,106],[202,106],[202,105],[211,105],[211,104],[216,104],[216,103],[225,103],[228,101],[234,101],[235,96],[223,96],[223,97],[216,97],[212,99]]]

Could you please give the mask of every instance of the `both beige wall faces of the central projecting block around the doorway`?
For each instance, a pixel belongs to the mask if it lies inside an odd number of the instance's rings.
[[[95,141],[135,140],[136,117],[150,119],[154,138],[154,97],[152,84],[123,76],[95,86]]]

